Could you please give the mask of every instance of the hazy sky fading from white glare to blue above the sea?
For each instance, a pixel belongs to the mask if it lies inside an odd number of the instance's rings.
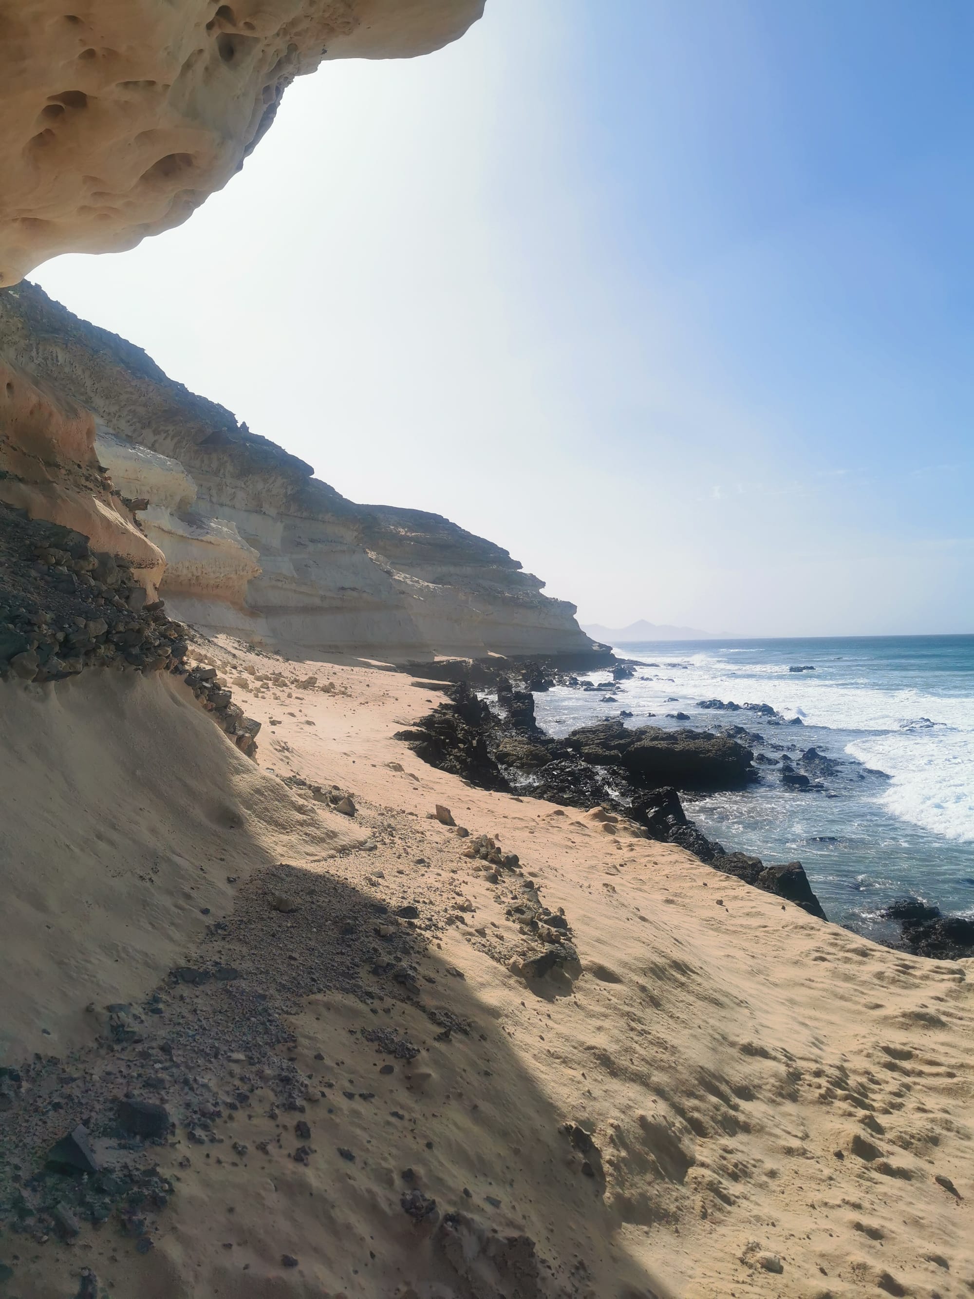
[[[487,0],[35,278],[583,621],[971,631],[969,0]]]

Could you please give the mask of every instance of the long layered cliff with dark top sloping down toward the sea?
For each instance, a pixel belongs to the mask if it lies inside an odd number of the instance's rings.
[[[36,286],[0,292],[0,349],[21,382],[91,421],[90,472],[161,553],[153,577],[177,617],[257,644],[393,661],[591,651],[574,607],[543,595],[500,546],[438,514],[347,500]],[[47,473],[77,477],[70,459],[52,447]],[[8,500],[19,491],[10,473]]]

